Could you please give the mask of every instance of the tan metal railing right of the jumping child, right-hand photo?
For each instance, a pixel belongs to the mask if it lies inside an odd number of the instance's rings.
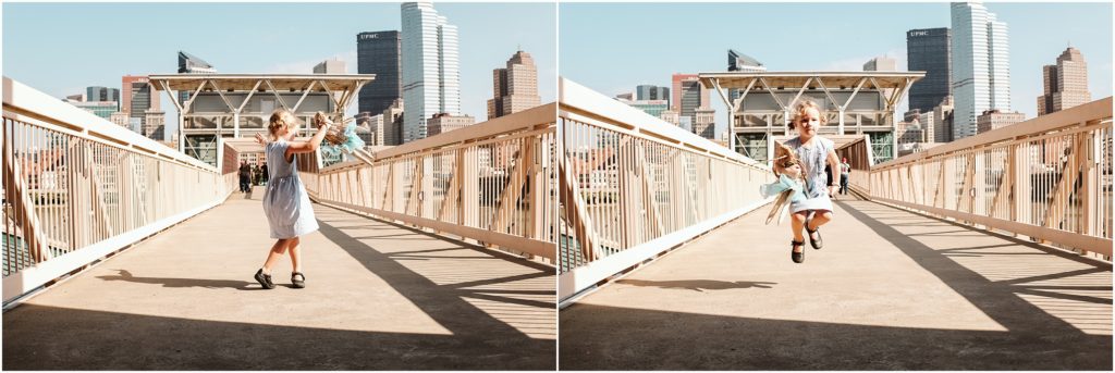
[[[872,199],[1111,258],[1109,97],[857,171]]]

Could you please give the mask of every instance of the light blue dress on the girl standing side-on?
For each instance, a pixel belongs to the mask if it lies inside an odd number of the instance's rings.
[[[298,158],[288,163],[290,143],[280,139],[264,148],[268,156],[266,192],[263,194],[263,214],[271,226],[271,238],[293,238],[318,230],[310,195],[298,177]]]

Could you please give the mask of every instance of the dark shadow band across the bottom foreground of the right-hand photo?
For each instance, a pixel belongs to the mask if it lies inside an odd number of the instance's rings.
[[[561,323],[561,369],[1089,370],[1112,366],[1112,337],[731,317],[575,304]],[[622,332],[614,332],[621,328]],[[578,338],[607,332],[615,338]],[[622,341],[622,343],[619,343]]]

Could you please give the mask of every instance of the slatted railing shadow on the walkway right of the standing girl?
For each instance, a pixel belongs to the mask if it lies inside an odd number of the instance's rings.
[[[423,257],[409,251],[394,252],[396,247],[385,245],[398,242],[398,237],[387,237],[384,244],[366,243],[376,238],[351,235],[332,223],[334,218],[353,216],[351,213],[321,207],[318,219],[326,238],[453,332],[463,343],[486,344],[495,350],[514,351],[537,360],[554,355],[554,342],[536,337],[556,337],[553,267],[367,218],[369,225],[409,230],[438,246],[421,249],[426,253]],[[358,232],[362,233],[362,229]],[[471,259],[463,261],[459,256]],[[416,261],[419,258],[424,261]],[[553,359],[549,360],[552,362]]]

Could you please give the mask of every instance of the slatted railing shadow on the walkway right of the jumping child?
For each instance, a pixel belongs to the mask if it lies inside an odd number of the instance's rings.
[[[960,223],[949,222],[914,212],[905,212],[881,204],[837,203],[837,205],[851,217],[866,225],[880,237],[890,242],[894,247],[899,248],[903,254],[913,259],[919,266],[940,278],[942,283],[956,291],[969,303],[1012,333],[1024,333],[1032,335],[1034,337],[1049,335],[1080,335],[1084,334],[1084,332],[1075,325],[1077,324],[1077,321],[1086,324],[1084,321],[1090,318],[1092,316],[1104,316],[1102,311],[1079,304],[1058,303],[1057,307],[1039,306],[1044,305],[1043,301],[1035,297],[1026,297],[1027,294],[1046,298],[1072,300],[1093,304],[1112,304],[1112,300],[1109,298],[1112,289],[1109,275],[1106,275],[1106,284],[1097,282],[1096,278],[1083,277],[1090,274],[1103,275],[1105,272],[1111,273],[1112,265],[1109,263],[1083,258],[1078,255],[1073,255],[1056,248],[1037,245],[1014,237],[992,234],[975,227],[964,226]],[[920,216],[935,223],[944,224],[934,228],[953,229],[948,232],[954,233],[904,233],[890,224],[890,222],[888,222],[889,218],[876,217],[879,215],[875,214],[875,210],[891,213],[901,212],[908,216]],[[1006,247],[1000,247],[999,245],[973,245],[938,249],[914,238],[919,237],[921,239],[928,239],[928,237],[968,236],[957,235],[956,233],[992,235],[997,238],[1007,241],[1012,245]],[[986,252],[987,249],[1002,249],[1011,246],[1016,248],[1024,247],[1024,249],[1016,249],[1010,253]],[[1028,254],[1049,255],[1051,257],[1039,257],[1038,259],[1043,262],[1039,264],[1040,267],[1037,267],[1038,264],[1035,264],[1032,261],[1019,261],[1018,256],[1026,256]],[[1070,262],[1060,262],[1065,263],[1065,265],[1060,265],[1058,263],[1049,262],[1053,257]],[[961,261],[962,258],[967,261]],[[1084,267],[1083,269],[1080,268],[1082,265]],[[1032,274],[1032,276],[1026,276],[1028,274]],[[1040,282],[1044,281],[1063,281],[1070,284],[1078,284],[1083,282],[1086,286],[1065,287],[1061,285],[1055,285],[1053,287],[1043,287]],[[1063,292],[1058,293],[1057,289],[1061,289]],[[1080,289],[1101,293],[1106,291],[1106,296],[1108,297],[1105,298],[1094,295],[1072,294],[1073,291]],[[1066,306],[1075,306],[1078,308],[1078,312],[1061,312],[1064,314],[1061,316],[1054,314],[1054,308],[1064,308]],[[1082,315],[1080,312],[1084,314]],[[1106,316],[1109,317],[1109,314],[1111,310],[1108,308],[1106,311]],[[1106,326],[1107,331],[1109,331],[1111,318],[1107,320],[1108,324]]]

